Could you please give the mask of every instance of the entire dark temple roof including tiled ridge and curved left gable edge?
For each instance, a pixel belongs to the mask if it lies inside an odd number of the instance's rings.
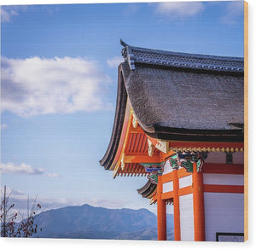
[[[121,44],[125,61],[119,65],[113,132],[102,166],[112,167],[123,148],[128,109],[143,133],[157,140],[243,142],[242,58]]]

